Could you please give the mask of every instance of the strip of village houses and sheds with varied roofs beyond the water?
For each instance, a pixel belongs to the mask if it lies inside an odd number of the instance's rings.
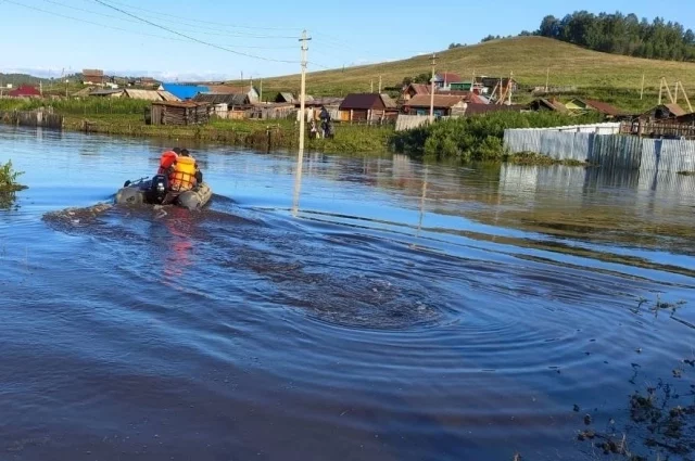
[[[205,124],[212,118],[222,119],[299,119],[300,99],[291,91],[281,91],[262,98],[253,81],[248,86],[224,82],[178,84],[161,82],[153,78],[109,77],[103,71],[84,69],[84,89],[67,94],[72,98],[119,98],[151,101],[146,114],[147,124],[192,125]],[[432,97],[432,88],[434,94]],[[41,98],[42,89],[33,86],[3,88],[3,98]],[[397,99],[386,92],[351,93],[345,97],[305,97],[307,120],[330,118],[337,123],[389,124],[396,129],[409,129],[427,123],[430,111],[437,118],[464,117],[501,111],[549,111],[570,115],[589,112],[602,114],[606,119],[629,121],[633,127],[627,132],[669,135],[668,124],[695,124],[695,113],[686,111],[674,101],[658,104],[644,114],[628,114],[602,101],[571,99],[564,103],[555,98],[539,97],[529,104],[514,104],[513,97],[519,84],[511,77],[462,78],[454,73],[435,73],[433,82],[404,85]],[[549,93],[553,89],[535,88],[535,93]],[[670,94],[670,93],[669,93]],[[687,101],[688,108],[690,101]],[[637,120],[641,120],[637,124]],[[666,125],[665,125],[666,124]],[[661,127],[660,129],[655,127]],[[658,132],[655,132],[657,129]],[[692,131],[692,130],[690,130]],[[688,132],[690,132],[688,131]]]

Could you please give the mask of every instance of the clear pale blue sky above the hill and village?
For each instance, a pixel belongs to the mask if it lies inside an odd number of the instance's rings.
[[[104,4],[105,3],[105,4]],[[695,1],[0,0],[0,72],[60,77],[83,68],[165,81],[265,78],[406,59],[535,30],[578,10],[661,16],[695,28]],[[116,11],[110,7],[116,8]],[[163,27],[163,28],[162,28]]]

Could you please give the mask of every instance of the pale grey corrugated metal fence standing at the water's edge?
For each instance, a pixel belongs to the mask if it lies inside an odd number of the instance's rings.
[[[695,141],[643,139],[619,130],[620,124],[510,129],[504,144],[511,153],[535,152],[607,169],[695,171]]]

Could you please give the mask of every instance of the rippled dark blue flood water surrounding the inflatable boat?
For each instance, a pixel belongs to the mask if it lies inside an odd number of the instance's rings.
[[[1,460],[602,459],[694,358],[693,177],[198,145],[201,213],[62,212],[165,148],[0,127]]]

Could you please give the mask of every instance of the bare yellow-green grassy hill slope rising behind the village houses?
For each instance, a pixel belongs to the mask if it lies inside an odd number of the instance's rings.
[[[647,88],[658,89],[660,78],[666,76],[671,88],[677,79],[681,79],[686,88],[695,90],[693,63],[601,53],[544,37],[493,40],[442,51],[438,56],[439,71],[454,72],[465,76],[464,78],[472,75],[473,71],[476,75],[490,76],[508,76],[514,72],[514,77],[528,87],[544,86],[549,67],[551,86],[639,90],[644,73]],[[382,76],[383,87],[400,86],[404,77],[430,72],[429,63],[430,56],[421,55],[344,71],[311,72],[306,80],[307,93],[344,95],[349,92],[369,91],[372,79],[376,91],[379,75]],[[265,94],[280,90],[299,92],[299,75],[263,80]]]

